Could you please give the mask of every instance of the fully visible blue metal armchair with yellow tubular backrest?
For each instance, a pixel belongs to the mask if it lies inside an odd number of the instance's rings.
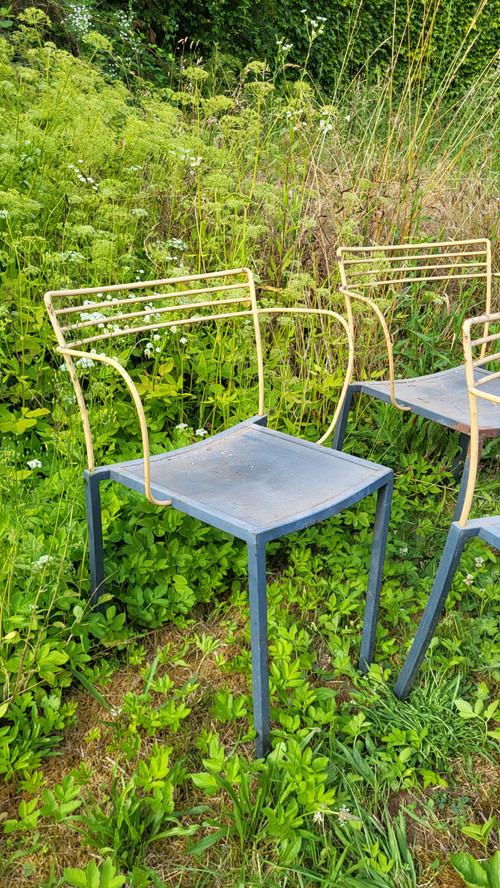
[[[227,284],[226,281],[232,276],[238,277],[237,283]],[[193,283],[198,285],[194,290],[190,289]],[[186,284],[188,284],[187,290],[179,293],[177,289],[176,292],[176,287]],[[153,292],[151,298],[156,300],[154,309],[144,308],[144,305],[141,305],[149,298],[144,295],[146,290]],[[166,292],[158,293],[158,290]],[[135,295],[134,291],[139,291],[138,295]],[[229,298],[227,298],[228,291],[230,291]],[[187,515],[244,540],[248,553],[255,753],[260,758],[269,752],[271,743],[266,543],[284,534],[324,521],[366,496],[377,493],[360,649],[360,668],[366,671],[371,663],[375,644],[392,496],[392,471],[384,466],[322,446],[333,429],[341,404],[327,432],[318,443],[269,429],[263,411],[263,388],[260,385],[259,415],[196,444],[151,456],[144,411],[137,389],[127,371],[116,359],[108,358],[104,354],[97,355],[88,350],[82,351],[82,347],[88,347],[93,343],[101,345],[107,339],[134,331],[142,332],[151,328],[197,323],[202,320],[244,317],[254,321],[260,382],[263,369],[260,344],[262,315],[290,313],[322,316],[323,319],[329,317],[344,328],[349,345],[349,367],[342,389],[342,400],[349,383],[353,360],[352,338],[348,325],[340,315],[326,310],[259,308],[255,298],[253,278],[248,269],[198,275],[180,280],[117,285],[101,288],[98,292],[100,301],[90,304],[87,301],[85,305],[76,306],[75,299],[81,301],[82,295],[95,295],[97,288],[51,292],[45,297],[59,342],[58,351],[64,355],[75,385],[86,434],[89,469],[85,472],[85,495],[92,604],[99,606],[99,598],[104,593],[105,584],[99,492],[103,481],[110,480],[122,484],[145,494],[153,503],[171,505]],[[102,301],[106,294],[117,292],[115,305]],[[173,296],[182,296],[184,301],[172,305],[167,300]],[[203,297],[202,301],[200,296]],[[69,302],[69,306],[63,305],[64,301]],[[207,307],[211,313],[204,317],[200,316],[199,312]],[[116,332],[116,324],[114,326],[110,324],[111,332],[101,332],[102,327],[107,330],[107,323],[112,317],[113,310],[115,314],[116,311],[119,312],[118,319],[124,328],[119,327]],[[68,324],[68,318],[70,321],[74,320],[75,313],[78,312],[82,320]],[[93,313],[99,315],[102,312],[106,314],[104,322],[102,318],[92,320]],[[162,315],[161,312],[169,313],[167,321],[163,320],[166,315]],[[174,313],[173,319],[170,312]],[[146,316],[149,318],[147,324]],[[89,332],[90,336],[85,335]],[[120,373],[127,383],[141,422],[144,448],[141,459],[99,467],[94,465],[88,416],[73,363],[74,358],[82,356],[107,363]]]

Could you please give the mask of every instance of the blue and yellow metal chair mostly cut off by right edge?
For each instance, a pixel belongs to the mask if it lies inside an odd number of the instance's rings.
[[[479,407],[484,401],[487,401],[491,408],[496,409],[496,411],[499,412],[500,405],[500,396],[497,394],[496,386],[496,383],[500,379],[500,373],[490,372],[485,375],[482,369],[484,364],[491,361],[498,361],[500,359],[500,353],[496,352],[489,355],[482,354],[482,357],[479,359],[474,359],[473,350],[477,347],[481,347],[482,350],[485,345],[490,346],[491,343],[500,340],[500,333],[489,333],[490,324],[498,323],[499,321],[500,314],[487,314],[477,318],[470,318],[463,325],[465,372],[467,375],[471,428],[470,471],[459,520],[454,520],[448,531],[448,536],[436,573],[436,578],[429,595],[429,600],[408,656],[406,657],[394,687],[394,693],[400,700],[408,695],[415,681],[417,672],[446,604],[446,599],[460,563],[460,557],[465,543],[471,537],[479,537],[479,539],[488,543],[490,546],[500,549],[500,515],[488,518],[468,519],[480,455],[480,433],[478,423]],[[483,335],[472,340],[471,328],[478,324],[483,328]]]

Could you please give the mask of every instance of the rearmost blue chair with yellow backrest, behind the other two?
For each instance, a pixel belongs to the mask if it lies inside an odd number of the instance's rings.
[[[397,244],[377,247],[340,247],[337,251],[342,286],[351,332],[354,335],[353,302],[361,302],[373,313],[383,331],[387,351],[388,380],[352,382],[335,428],[332,446],[341,450],[347,427],[352,396],[355,393],[392,404],[399,410],[423,416],[439,425],[459,432],[459,451],[451,470],[458,481],[455,518],[462,511],[470,468],[470,419],[465,367],[453,367],[428,376],[396,379],[392,337],[384,313],[374,298],[394,295],[415,285],[439,288],[450,309],[447,288],[451,284],[484,283],[485,313],[491,312],[492,272],[491,244],[487,239],[446,241],[425,244]],[[488,371],[481,371],[484,375]],[[500,394],[500,381],[495,383]],[[487,438],[500,436],[500,418],[494,406],[479,406],[480,446]]]

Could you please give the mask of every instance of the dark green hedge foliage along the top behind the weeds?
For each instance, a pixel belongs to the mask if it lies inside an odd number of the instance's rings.
[[[89,0],[63,7],[72,8],[102,23],[107,10],[111,35],[113,16],[123,5],[111,0],[97,7]],[[339,79],[347,84],[359,72],[376,80],[390,68],[400,82],[408,65],[419,67],[423,56],[427,64],[421,77],[428,89],[458,64],[457,88],[463,89],[496,56],[500,42],[500,0],[327,0],[313,6],[301,0],[133,0],[129,21],[136,35],[160,53],[175,53],[179,41],[184,47],[186,41],[205,59],[217,46],[221,53],[267,60],[272,66],[283,45],[290,46],[292,78],[308,53],[311,33],[322,30],[310,54],[310,71],[327,93],[338,92]]]

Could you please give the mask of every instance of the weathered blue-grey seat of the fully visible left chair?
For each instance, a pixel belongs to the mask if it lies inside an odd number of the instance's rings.
[[[277,539],[386,484],[389,469],[274,431],[264,417],[150,458],[158,499],[245,541]],[[94,470],[144,493],[144,460]]]

